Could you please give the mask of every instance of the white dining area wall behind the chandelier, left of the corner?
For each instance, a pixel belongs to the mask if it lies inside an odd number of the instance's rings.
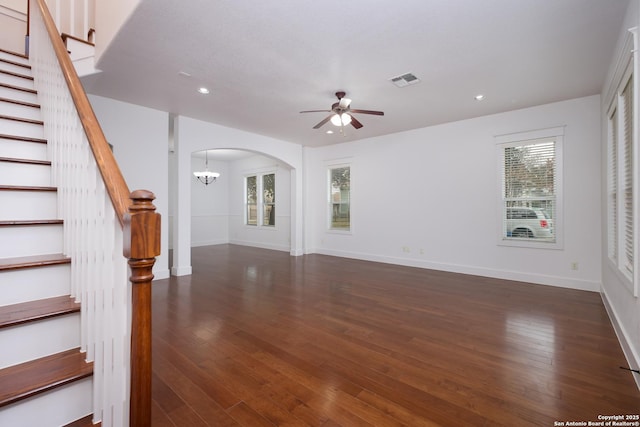
[[[214,153],[215,151],[212,151]],[[204,159],[191,158],[191,171],[204,170]],[[228,162],[209,159],[209,170],[220,173],[216,182],[204,185],[191,174],[191,246],[229,243]]]

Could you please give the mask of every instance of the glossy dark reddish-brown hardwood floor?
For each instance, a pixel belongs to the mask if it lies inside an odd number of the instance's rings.
[[[154,426],[554,426],[640,413],[600,295],[194,248],[153,285]]]

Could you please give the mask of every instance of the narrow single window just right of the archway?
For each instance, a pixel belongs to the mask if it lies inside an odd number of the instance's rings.
[[[351,229],[351,167],[329,168],[329,218],[331,230]]]

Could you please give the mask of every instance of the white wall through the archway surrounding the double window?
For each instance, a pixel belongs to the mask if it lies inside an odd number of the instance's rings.
[[[229,233],[230,242],[239,245],[289,251],[291,248],[291,170],[270,157],[252,156],[230,165]],[[276,174],[275,226],[244,223],[244,178],[255,173]]]

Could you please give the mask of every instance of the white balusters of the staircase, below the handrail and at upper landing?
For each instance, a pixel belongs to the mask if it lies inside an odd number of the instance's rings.
[[[50,4],[60,22],[58,2]],[[87,0],[84,7],[86,19]],[[72,17],[74,10],[72,4]],[[64,251],[73,259],[72,293],[82,302],[81,346],[94,362],[94,414],[104,426],[128,425],[131,288],[122,227],[33,2],[31,11],[30,57],[52,180],[58,187],[58,212],[65,220]]]

